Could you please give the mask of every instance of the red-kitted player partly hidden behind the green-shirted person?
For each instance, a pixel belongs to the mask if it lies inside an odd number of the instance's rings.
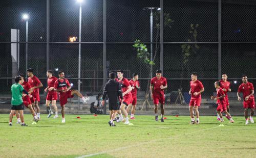
[[[29,94],[32,93],[32,89],[31,89],[31,86],[28,82],[24,81],[24,74],[18,74],[22,80],[20,80],[20,84],[23,86],[23,88],[25,89],[25,91],[27,91]],[[37,119],[37,116],[36,116],[36,113],[32,107],[32,103],[31,103],[31,100],[30,100],[30,97],[23,93],[22,94],[23,97],[23,104],[30,110],[32,116],[34,117],[34,121],[38,122],[38,119]],[[32,97],[32,96],[31,96]],[[19,117],[19,113],[16,114],[16,117],[17,117],[17,123],[21,123],[20,121],[20,117]]]

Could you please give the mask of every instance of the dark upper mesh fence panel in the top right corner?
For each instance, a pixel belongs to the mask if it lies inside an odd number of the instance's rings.
[[[255,1],[222,1],[222,41],[256,41]]]

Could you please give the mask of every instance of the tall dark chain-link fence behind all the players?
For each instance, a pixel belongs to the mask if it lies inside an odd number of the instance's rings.
[[[255,1],[10,0],[1,1],[0,6],[1,108],[9,108],[13,73],[26,74],[27,68],[34,69],[44,88],[47,69],[55,76],[65,71],[73,89],[91,96],[87,104],[78,104],[77,97],[69,99],[67,112],[82,114],[103,113],[98,95],[112,70],[123,69],[129,80],[133,73],[139,74],[136,114],[154,114],[147,94],[150,78],[159,68],[167,78],[165,113],[169,115],[189,114],[191,72],[199,74],[205,87],[202,115],[216,114],[210,96],[216,93],[214,82],[222,73],[230,78],[231,115],[243,115],[236,96],[242,74],[256,82]],[[19,34],[12,35],[11,29]],[[12,41],[12,36],[19,41]],[[153,66],[138,58],[135,40],[146,45]],[[12,55],[15,44],[16,56]],[[41,106],[46,99],[44,88],[40,89]]]

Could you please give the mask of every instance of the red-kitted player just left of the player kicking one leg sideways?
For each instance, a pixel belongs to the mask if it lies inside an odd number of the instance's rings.
[[[58,99],[58,95],[57,95],[57,92],[54,91],[54,83],[55,83],[55,81],[58,80],[58,78],[53,76],[52,73],[53,73],[52,70],[47,70],[47,72],[46,72],[46,75],[48,78],[48,80],[47,80],[48,87],[46,87],[46,89],[45,89],[45,92],[47,92],[47,90],[48,90],[47,97],[46,97],[46,108],[49,111],[49,115],[47,116],[47,118],[51,117],[53,114],[53,112],[50,108],[51,101],[52,101],[52,107],[55,111],[55,116],[53,118],[58,118],[58,109],[56,106],[56,101]]]

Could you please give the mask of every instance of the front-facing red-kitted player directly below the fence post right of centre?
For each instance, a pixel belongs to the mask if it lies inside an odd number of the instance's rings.
[[[151,79],[150,92],[155,104],[155,120],[158,121],[158,105],[161,107],[161,122],[164,115],[164,89],[167,88],[166,78],[162,76],[162,70],[156,71],[156,77]]]

